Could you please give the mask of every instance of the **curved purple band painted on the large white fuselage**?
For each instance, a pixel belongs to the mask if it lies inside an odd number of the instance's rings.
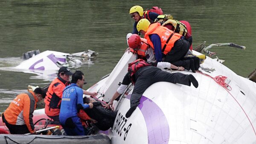
[[[130,99],[131,95],[126,98]],[[138,107],[146,122],[148,144],[168,144],[169,124],[160,107],[145,96],[141,97]]]

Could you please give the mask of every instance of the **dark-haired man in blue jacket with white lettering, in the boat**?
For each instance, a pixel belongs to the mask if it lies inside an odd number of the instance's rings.
[[[68,136],[84,136],[85,129],[78,117],[80,110],[93,108],[93,104],[83,103],[84,73],[76,71],[72,75],[71,85],[67,86],[62,95],[60,122]]]

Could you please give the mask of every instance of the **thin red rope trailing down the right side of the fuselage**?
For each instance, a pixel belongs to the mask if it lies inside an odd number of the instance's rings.
[[[201,71],[197,71],[197,72],[203,74],[204,76],[208,76],[208,77],[212,78],[215,82],[218,83],[218,85],[221,85],[223,88],[225,88],[227,90],[227,92],[233,97],[233,99],[235,99],[236,103],[241,107],[241,109],[243,110],[245,116],[247,117],[248,121],[250,122],[250,125],[253,127],[253,124],[250,121],[249,116],[247,116],[247,114],[245,113],[243,107],[239,104],[239,102],[236,100],[236,98],[230,93],[230,90],[232,90],[232,88],[225,83],[225,80],[227,79],[226,76],[219,75],[219,76],[212,77],[212,76],[210,76],[210,75],[208,75],[206,73],[202,73]],[[230,90],[227,87],[230,87]],[[254,130],[254,127],[253,127],[253,131],[254,131],[254,134],[256,136],[256,132]]]

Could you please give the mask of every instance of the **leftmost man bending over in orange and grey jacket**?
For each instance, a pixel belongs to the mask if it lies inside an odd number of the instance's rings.
[[[37,102],[45,98],[43,88],[16,96],[2,115],[3,122],[11,134],[35,133],[33,112]]]

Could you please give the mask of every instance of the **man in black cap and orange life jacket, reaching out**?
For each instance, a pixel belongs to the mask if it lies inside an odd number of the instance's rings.
[[[70,72],[70,69],[67,67],[61,67],[58,70],[58,77],[55,78],[52,83],[49,85],[47,96],[44,99],[45,102],[45,114],[53,120],[51,124],[60,124],[59,113],[61,106],[61,97],[64,88],[70,84],[70,76],[73,73]],[[96,96],[96,92],[91,93],[83,90],[84,94],[90,96]]]

